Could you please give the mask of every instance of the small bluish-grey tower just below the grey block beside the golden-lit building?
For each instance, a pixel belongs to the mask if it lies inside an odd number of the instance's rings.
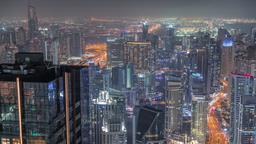
[[[123,67],[113,67],[112,68],[112,88],[122,91],[125,88],[125,71]]]

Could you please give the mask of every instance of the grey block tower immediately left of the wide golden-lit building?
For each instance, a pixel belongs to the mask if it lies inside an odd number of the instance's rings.
[[[124,65],[124,40],[107,40],[107,67],[123,67]]]

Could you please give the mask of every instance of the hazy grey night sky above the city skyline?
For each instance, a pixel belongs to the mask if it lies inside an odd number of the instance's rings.
[[[30,0],[37,16],[256,17],[256,0]],[[27,0],[0,0],[0,18],[26,17]]]

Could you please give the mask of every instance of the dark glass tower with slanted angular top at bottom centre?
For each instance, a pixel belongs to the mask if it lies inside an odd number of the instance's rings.
[[[150,106],[133,109],[135,143],[165,144],[165,112]]]

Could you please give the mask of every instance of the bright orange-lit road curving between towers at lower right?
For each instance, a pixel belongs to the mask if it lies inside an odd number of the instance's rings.
[[[221,102],[227,98],[227,94],[218,92],[213,94],[212,101],[209,102],[207,126],[209,128],[209,143],[210,144],[225,144],[227,142],[227,134],[221,130],[221,124],[218,121],[216,109],[221,107]]]

